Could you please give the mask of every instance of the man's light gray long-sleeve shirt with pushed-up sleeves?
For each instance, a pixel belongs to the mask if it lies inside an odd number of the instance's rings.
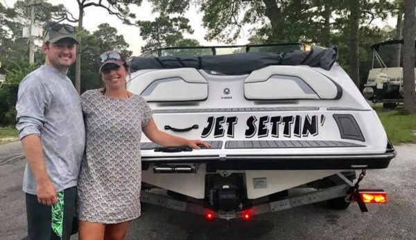
[[[38,135],[44,162],[56,191],[76,186],[85,148],[83,112],[71,80],[43,65],[19,85],[16,104],[19,138]],[[26,164],[23,191],[36,194],[36,182]]]

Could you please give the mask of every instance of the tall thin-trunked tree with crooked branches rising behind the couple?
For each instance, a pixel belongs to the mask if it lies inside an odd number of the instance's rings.
[[[132,19],[135,19],[136,15],[130,12],[129,6],[131,5],[141,5],[142,0],[76,0],[78,3],[78,19],[74,18],[71,12],[66,11],[66,15],[58,21],[63,21],[66,19],[69,22],[78,22],[78,42],[79,45],[76,53],[76,74],[75,74],[75,87],[78,93],[81,91],[81,53],[82,53],[82,40],[85,31],[83,30],[83,17],[85,15],[85,8],[88,7],[98,7],[107,10],[108,14],[118,17],[123,24],[133,24]]]

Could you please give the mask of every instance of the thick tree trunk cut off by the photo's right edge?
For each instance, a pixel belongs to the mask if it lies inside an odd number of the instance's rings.
[[[415,93],[415,0],[404,0],[403,92],[404,110],[416,113]]]

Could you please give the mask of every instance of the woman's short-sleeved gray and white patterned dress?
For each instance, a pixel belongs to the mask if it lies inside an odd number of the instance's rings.
[[[78,219],[121,223],[140,216],[141,128],[152,110],[139,95],[114,99],[98,89],[81,96],[86,145],[78,180]]]

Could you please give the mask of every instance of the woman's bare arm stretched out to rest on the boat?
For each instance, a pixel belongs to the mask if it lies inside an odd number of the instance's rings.
[[[190,148],[200,149],[198,145],[203,145],[209,148],[209,144],[201,140],[191,140],[183,137],[176,137],[170,135],[164,131],[161,131],[157,128],[155,120],[153,117],[150,118],[148,124],[144,126],[143,132],[150,139],[150,141],[155,144],[162,146],[189,146]]]

